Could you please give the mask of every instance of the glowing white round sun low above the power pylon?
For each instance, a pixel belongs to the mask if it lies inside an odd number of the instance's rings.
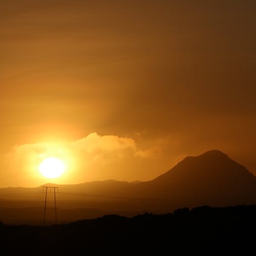
[[[47,178],[57,178],[63,174],[65,165],[61,160],[49,157],[42,161],[39,169],[43,176]]]

